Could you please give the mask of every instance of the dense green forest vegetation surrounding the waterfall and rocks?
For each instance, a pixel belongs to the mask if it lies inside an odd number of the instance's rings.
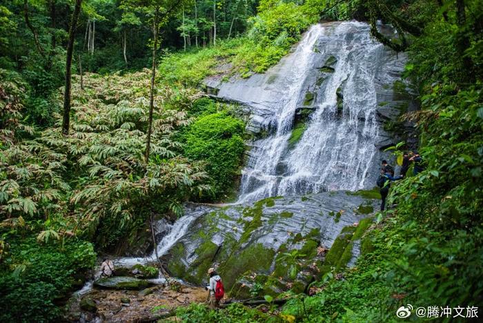
[[[355,266],[266,295],[263,311],[192,303],[172,315],[387,322],[417,304],[470,317],[483,306],[482,8],[481,0],[0,0],[0,321],[68,320],[68,299],[98,258],[126,254],[154,221],[181,217],[185,202],[234,202],[257,135],[236,102],[206,94],[204,79],[264,73],[311,25],[352,19],[408,57],[402,77],[418,108],[400,124],[415,124],[424,171],[395,182],[395,206],[371,214]],[[297,264],[304,255],[290,257]]]

